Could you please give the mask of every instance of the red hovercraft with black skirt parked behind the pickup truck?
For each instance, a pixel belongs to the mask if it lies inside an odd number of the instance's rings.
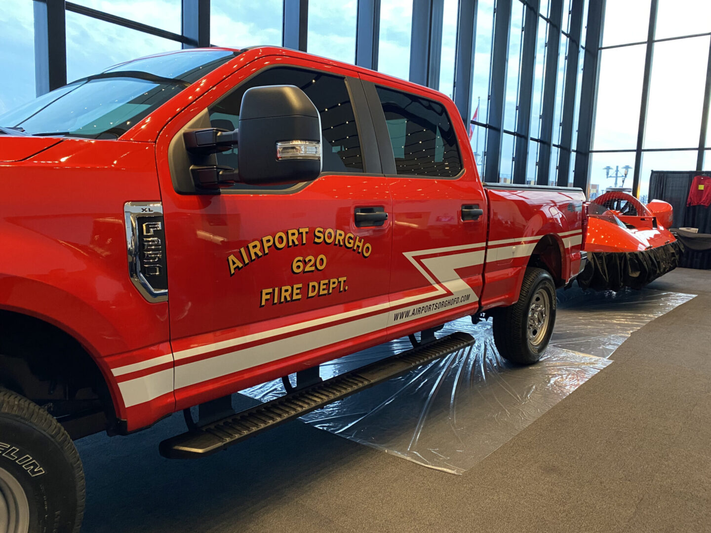
[[[577,278],[583,289],[641,289],[678,266],[684,248],[667,229],[670,204],[652,200],[643,205],[623,190],[608,190],[586,205],[587,264]]]

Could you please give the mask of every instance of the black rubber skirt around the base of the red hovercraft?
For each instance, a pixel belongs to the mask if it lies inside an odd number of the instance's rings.
[[[583,289],[596,291],[641,289],[679,266],[683,253],[678,240],[643,252],[587,252],[587,264],[577,281]]]

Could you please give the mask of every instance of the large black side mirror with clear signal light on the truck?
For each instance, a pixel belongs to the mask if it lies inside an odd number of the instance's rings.
[[[242,97],[237,136],[242,183],[299,183],[321,173],[321,117],[299,87],[248,89]]]

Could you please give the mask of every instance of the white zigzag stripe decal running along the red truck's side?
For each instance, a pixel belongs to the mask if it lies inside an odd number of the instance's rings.
[[[577,235],[572,235],[577,234]],[[581,230],[573,230],[571,232],[563,232],[559,234],[564,238],[567,247],[580,244],[582,242]],[[567,237],[570,235],[570,237]],[[533,252],[535,245],[542,236],[535,237],[518,237],[515,239],[503,239],[489,243],[489,246],[496,244],[517,243],[511,246],[491,247],[486,249],[486,262],[499,261],[502,259],[510,259],[513,257],[527,257]],[[256,365],[261,365],[266,362],[296,355],[297,353],[321,348],[323,346],[347,340],[358,335],[365,335],[373,331],[385,328],[387,325],[393,325],[400,320],[400,323],[422,318],[430,314],[444,311],[449,306],[459,306],[470,304],[476,301],[476,294],[461,277],[456,274],[456,269],[465,266],[474,266],[482,264],[484,260],[485,243],[462,244],[459,246],[442,247],[426,250],[418,250],[417,252],[405,252],[404,255],[412,263],[413,266],[424,276],[432,286],[432,291],[417,296],[409,296],[400,298],[391,302],[379,303],[375,306],[367,308],[354,309],[337,315],[326,316],[311,321],[287,325],[282,328],[245,335],[240,338],[223,340],[219,343],[211,343],[198,346],[196,348],[188,348],[173,354],[173,358],[178,360],[194,357],[208,352],[223,350],[225,348],[235,348],[246,343],[251,343],[255,340],[263,340],[272,338],[285,333],[294,333],[299,330],[311,328],[318,325],[326,325],[335,321],[342,321],[348,318],[354,320],[347,321],[338,325],[330,325],[326,328],[320,328],[306,333],[297,333],[287,338],[272,341],[270,343],[262,343],[250,348],[237,349],[222,355],[208,357],[203,360],[188,362],[186,365],[178,365],[174,368],[161,370],[154,374],[136,379],[130,379],[126,382],[119,383],[124,402],[127,407],[131,405],[148,402],[151,399],[159,397],[161,394],[166,394],[181,387],[188,387],[193,384],[203,382],[208,379],[220,377],[232,372],[239,372]],[[447,252],[461,252],[447,254],[440,257],[429,257],[425,259],[417,259],[425,255],[442,254]],[[495,259],[497,258],[497,259]],[[424,266],[423,266],[424,265]],[[429,274],[425,268],[432,272]],[[433,277],[434,276],[434,277]],[[448,294],[448,291],[451,294]],[[432,296],[443,295],[434,301],[429,301],[419,307],[410,308],[409,310],[390,311],[395,307],[400,307],[406,303],[416,304],[419,301]],[[358,318],[366,313],[383,311],[373,316]],[[405,311],[407,317],[402,314]],[[410,311],[409,313],[407,311]],[[411,314],[412,313],[412,314]],[[161,355],[153,359],[125,365],[113,370],[114,375],[124,375],[129,372],[144,370],[156,365],[162,365],[171,360],[171,355]],[[173,384],[174,372],[174,384]]]

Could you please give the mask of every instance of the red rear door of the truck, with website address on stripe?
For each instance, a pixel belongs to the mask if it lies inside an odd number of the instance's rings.
[[[370,82],[373,83],[370,83]],[[486,248],[486,197],[456,108],[364,77],[392,195],[388,333],[476,311]]]

